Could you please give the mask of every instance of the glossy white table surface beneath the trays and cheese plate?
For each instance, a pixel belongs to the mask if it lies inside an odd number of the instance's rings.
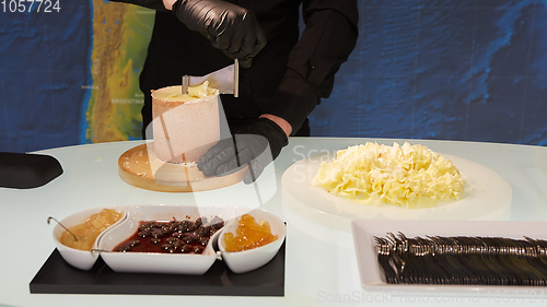
[[[281,176],[293,163],[321,151],[393,139],[291,138],[271,169],[275,194],[261,208],[288,223],[284,297],[57,295],[31,294],[28,284],[54,249],[48,216],[63,219],[84,209],[112,204],[191,203],[191,193],[135,188],[118,176],[117,161],[141,141],[60,147],[39,153],[55,156],[65,173],[28,190],[0,188],[0,225],[7,231],[0,252],[0,306],[416,306],[547,304],[547,288],[499,292],[366,292],[361,287],[351,233],[302,216],[283,203]],[[489,167],[512,187],[509,220],[547,220],[547,147],[497,143],[409,140],[441,153]],[[241,184],[243,185],[243,184]],[[270,185],[271,186],[271,185]],[[271,188],[271,187],[270,187]],[[232,189],[233,191],[233,189]],[[207,193],[207,192],[205,192]],[[237,198],[238,196],[234,196]],[[266,198],[267,199],[267,198]],[[221,201],[221,200],[219,200]],[[547,224],[546,224],[547,225]],[[546,228],[547,229],[547,228]]]

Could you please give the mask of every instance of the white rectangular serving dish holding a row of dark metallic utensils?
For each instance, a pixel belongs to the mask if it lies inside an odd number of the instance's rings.
[[[488,236],[522,239],[547,239],[547,222],[516,221],[371,221],[356,220],[351,223],[353,244],[361,285],[365,291],[440,291],[480,292],[489,290],[522,291],[545,288],[532,286],[488,286],[488,285],[435,285],[435,284],[387,284],[377,263],[374,237],[385,237],[387,233],[399,232],[407,237],[415,236]]]

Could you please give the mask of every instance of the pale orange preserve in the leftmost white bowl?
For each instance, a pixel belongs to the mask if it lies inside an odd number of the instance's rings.
[[[82,224],[69,227],[69,231],[74,234],[74,237],[65,231],[59,239],[62,245],[80,250],[91,250],[97,236],[106,228],[121,219],[123,213],[112,209],[103,209],[88,217]]]

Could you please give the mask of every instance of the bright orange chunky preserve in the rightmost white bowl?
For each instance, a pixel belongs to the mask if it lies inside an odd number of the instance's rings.
[[[240,219],[240,225],[235,229],[235,236],[232,233],[224,235],[224,247],[226,251],[242,251],[257,248],[277,240],[277,236],[271,234],[270,224],[261,221],[256,222],[248,214],[243,214]]]

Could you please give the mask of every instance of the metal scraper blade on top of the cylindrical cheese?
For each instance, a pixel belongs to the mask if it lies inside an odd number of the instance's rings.
[[[221,94],[233,94],[237,97],[240,95],[240,62],[235,59],[233,64],[203,76],[184,75],[183,94],[188,92],[189,85],[201,84],[203,81],[209,81],[209,86],[219,90]]]

